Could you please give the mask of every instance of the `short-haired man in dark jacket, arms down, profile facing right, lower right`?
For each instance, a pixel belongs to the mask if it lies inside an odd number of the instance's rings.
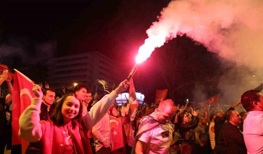
[[[246,154],[246,145],[242,132],[239,130],[241,116],[236,111],[228,111],[226,114],[228,123],[224,127],[224,142],[226,154]]]

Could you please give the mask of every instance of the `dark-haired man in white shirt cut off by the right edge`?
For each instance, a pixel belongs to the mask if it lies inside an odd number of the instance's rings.
[[[263,153],[263,95],[249,90],[241,96],[243,107],[248,111],[243,124],[244,141],[248,154]]]

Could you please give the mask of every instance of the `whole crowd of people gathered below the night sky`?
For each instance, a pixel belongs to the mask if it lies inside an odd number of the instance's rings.
[[[12,145],[13,86],[8,73],[0,76],[9,94],[0,99],[0,153]],[[31,153],[96,154],[255,154],[263,153],[263,84],[245,92],[224,113],[217,107],[179,105],[170,99],[159,104],[118,105],[118,94],[127,90],[124,80],[111,93],[92,97],[89,86],[79,83],[62,97],[48,85],[34,85],[29,105],[19,119],[19,136],[29,141]],[[245,110],[237,112],[235,107]]]

